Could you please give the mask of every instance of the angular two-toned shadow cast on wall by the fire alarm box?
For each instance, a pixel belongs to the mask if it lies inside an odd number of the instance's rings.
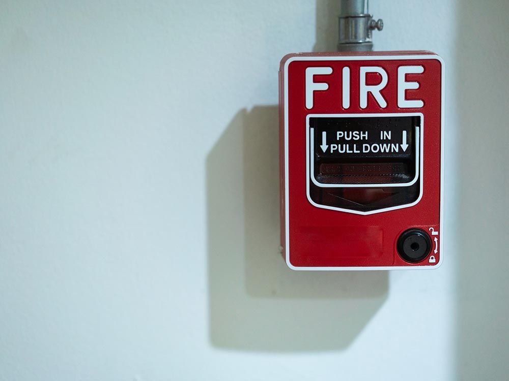
[[[278,108],[235,115],[207,156],[209,333],[247,351],[347,347],[386,299],[386,272],[296,272],[279,247]]]

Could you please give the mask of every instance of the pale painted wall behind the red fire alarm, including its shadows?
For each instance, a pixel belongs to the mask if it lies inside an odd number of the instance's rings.
[[[338,3],[2,2],[0,379],[507,378],[509,3],[371,4],[447,64],[444,265],[278,257],[279,60]]]

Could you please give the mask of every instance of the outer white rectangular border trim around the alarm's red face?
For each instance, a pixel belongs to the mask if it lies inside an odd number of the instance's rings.
[[[439,252],[440,252],[440,260],[434,266],[372,266],[372,267],[296,267],[290,263],[290,203],[289,203],[289,189],[288,189],[288,67],[290,63],[293,61],[359,61],[359,60],[420,60],[420,59],[436,59],[440,62],[441,66],[441,99],[440,99],[440,243],[439,243]],[[381,56],[294,56],[290,57],[285,62],[284,73],[283,73],[283,81],[284,81],[284,118],[285,118],[285,257],[286,263],[289,268],[292,270],[300,270],[300,271],[345,271],[345,270],[433,270],[439,268],[443,263],[443,211],[444,205],[444,139],[445,139],[445,66],[443,59],[435,54],[426,54],[426,55],[381,55]],[[423,140],[423,139],[421,139]],[[422,161],[422,160],[421,160]],[[306,162],[307,158],[306,158]]]

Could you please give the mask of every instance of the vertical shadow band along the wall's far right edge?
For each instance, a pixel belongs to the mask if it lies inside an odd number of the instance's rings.
[[[457,379],[501,380],[509,374],[509,2],[457,7]]]

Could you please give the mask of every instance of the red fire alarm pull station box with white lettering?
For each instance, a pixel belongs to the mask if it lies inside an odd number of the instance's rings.
[[[438,267],[443,60],[430,52],[290,54],[279,79],[288,266]]]

